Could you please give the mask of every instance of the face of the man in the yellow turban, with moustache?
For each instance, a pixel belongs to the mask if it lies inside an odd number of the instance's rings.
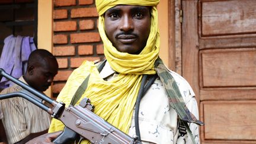
[[[117,5],[105,12],[105,33],[119,52],[139,54],[151,28],[149,7]]]

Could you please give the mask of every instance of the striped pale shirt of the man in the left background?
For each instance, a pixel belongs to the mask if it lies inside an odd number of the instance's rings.
[[[19,80],[25,83],[23,77]],[[4,89],[1,94],[22,90],[23,88],[15,84]],[[8,143],[19,142],[30,133],[49,129],[50,115],[24,98],[14,97],[0,100],[0,110],[3,114],[2,123],[5,127]]]

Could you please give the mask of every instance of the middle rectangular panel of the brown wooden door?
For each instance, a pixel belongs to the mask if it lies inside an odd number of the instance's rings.
[[[256,86],[256,49],[201,50],[200,57],[201,87]]]

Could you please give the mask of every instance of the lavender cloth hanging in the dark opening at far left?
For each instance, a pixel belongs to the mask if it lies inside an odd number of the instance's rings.
[[[0,57],[0,68],[14,78],[20,78],[27,69],[27,60],[31,52],[36,50],[32,37],[10,35],[4,40],[4,48]],[[2,78],[0,89],[8,88],[13,84]]]

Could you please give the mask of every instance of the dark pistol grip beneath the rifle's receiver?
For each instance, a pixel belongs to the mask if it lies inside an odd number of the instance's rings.
[[[73,130],[65,126],[64,130],[60,135],[53,140],[53,143],[63,144],[63,143],[73,143],[76,139],[79,138],[79,135]]]

